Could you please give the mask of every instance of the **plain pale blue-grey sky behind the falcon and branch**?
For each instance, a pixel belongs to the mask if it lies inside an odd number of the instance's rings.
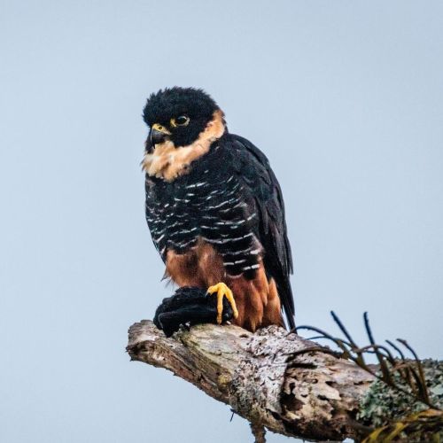
[[[129,362],[172,290],[144,221],[145,98],[203,87],[284,190],[297,322],[442,358],[443,4],[0,2],[0,440],[251,441]],[[288,441],[269,435],[269,442]]]

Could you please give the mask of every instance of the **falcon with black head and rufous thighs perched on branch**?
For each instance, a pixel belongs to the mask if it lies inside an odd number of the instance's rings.
[[[160,89],[143,116],[146,221],[165,276],[215,294],[217,323],[227,300],[247,330],[284,326],[282,311],[295,328],[284,200],[266,156],[229,133],[202,89]]]

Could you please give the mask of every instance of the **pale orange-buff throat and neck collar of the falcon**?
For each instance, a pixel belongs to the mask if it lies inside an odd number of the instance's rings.
[[[215,111],[198,139],[188,146],[175,147],[171,141],[156,144],[153,152],[145,153],[142,168],[147,175],[173,182],[179,175],[187,174],[192,161],[209,151],[209,147],[219,139],[225,130],[222,111]]]

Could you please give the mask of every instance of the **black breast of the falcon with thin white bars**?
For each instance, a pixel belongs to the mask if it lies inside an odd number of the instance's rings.
[[[146,220],[163,260],[167,251],[187,253],[202,239],[221,254],[231,277],[253,278],[260,267],[253,198],[229,174],[217,147],[189,175],[172,183],[146,178]]]

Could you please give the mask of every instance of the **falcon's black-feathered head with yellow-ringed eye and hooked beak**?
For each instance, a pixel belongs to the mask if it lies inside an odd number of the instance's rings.
[[[152,94],[144,106],[144,122],[150,133],[146,152],[156,144],[172,142],[174,146],[189,146],[200,136],[218,113],[223,130],[223,113],[214,99],[202,89],[167,88]]]

